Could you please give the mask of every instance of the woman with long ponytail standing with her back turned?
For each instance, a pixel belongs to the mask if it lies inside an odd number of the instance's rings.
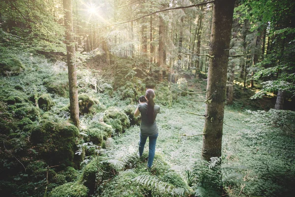
[[[153,158],[155,156],[156,141],[158,137],[158,127],[156,123],[157,113],[160,112],[160,107],[155,105],[153,99],[155,98],[155,92],[152,89],[148,89],[146,92],[147,102],[140,103],[134,112],[134,116],[137,117],[141,114],[140,124],[140,140],[139,140],[139,156],[141,157],[144,152],[147,138],[148,144],[148,169],[150,169]]]

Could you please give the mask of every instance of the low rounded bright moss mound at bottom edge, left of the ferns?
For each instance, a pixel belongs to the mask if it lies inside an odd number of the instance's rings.
[[[49,197],[88,197],[88,191],[84,185],[71,182],[53,189]]]

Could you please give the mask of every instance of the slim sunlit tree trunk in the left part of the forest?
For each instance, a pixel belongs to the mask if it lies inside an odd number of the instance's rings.
[[[70,88],[70,118],[74,125],[79,127],[79,103],[77,89],[77,73],[75,61],[75,44],[72,20],[72,1],[63,0],[64,9],[64,26],[65,26],[65,42],[66,56],[68,65],[68,78]]]

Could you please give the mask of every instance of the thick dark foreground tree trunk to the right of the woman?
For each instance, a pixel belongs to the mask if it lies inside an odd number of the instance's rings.
[[[213,6],[212,32],[209,55],[210,66],[207,79],[207,99],[202,157],[221,156],[224,101],[227,66],[235,0],[216,0]]]

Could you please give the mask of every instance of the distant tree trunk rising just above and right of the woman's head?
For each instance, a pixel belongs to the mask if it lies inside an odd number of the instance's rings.
[[[165,27],[164,27],[164,19],[161,15],[159,15],[159,51],[158,51],[158,66],[159,66],[159,74],[158,80],[163,80],[163,66],[164,66],[164,47],[165,47]]]

